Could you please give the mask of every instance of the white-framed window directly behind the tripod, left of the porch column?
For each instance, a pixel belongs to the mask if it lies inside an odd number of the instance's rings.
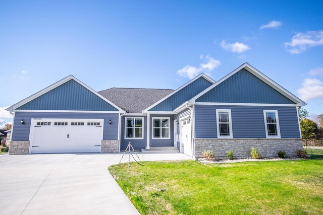
[[[125,139],[143,139],[143,117],[125,118]]]

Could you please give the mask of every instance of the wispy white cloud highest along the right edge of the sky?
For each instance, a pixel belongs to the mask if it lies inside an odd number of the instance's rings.
[[[292,54],[299,54],[308,48],[323,45],[323,31],[307,31],[297,33],[291,42],[286,42],[286,50]]]

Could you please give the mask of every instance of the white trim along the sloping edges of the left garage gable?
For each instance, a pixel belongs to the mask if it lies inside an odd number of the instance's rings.
[[[34,100],[35,98],[51,91],[52,89],[55,89],[63,84],[65,84],[66,82],[70,81],[70,80],[74,80],[77,83],[79,83],[80,85],[82,85],[83,87],[85,87],[87,90],[91,91],[92,93],[94,93],[96,96],[100,97],[101,99],[103,99],[105,102],[111,104],[113,107],[117,108],[119,110],[119,112],[124,112],[120,107],[118,107],[117,105],[115,105],[114,103],[112,103],[111,101],[107,100],[106,98],[104,98],[103,96],[101,96],[100,94],[98,94],[95,90],[93,90],[92,88],[90,88],[89,86],[87,86],[86,84],[84,84],[83,82],[81,82],[80,80],[78,80],[77,78],[75,78],[74,76],[70,75],[64,79],[62,79],[61,81],[58,81],[48,87],[46,87],[45,89],[42,89],[41,91],[38,91],[37,93],[27,97],[26,99],[21,100],[20,102],[10,106],[9,108],[7,108],[7,111],[15,111],[15,109],[21,107],[22,105]]]

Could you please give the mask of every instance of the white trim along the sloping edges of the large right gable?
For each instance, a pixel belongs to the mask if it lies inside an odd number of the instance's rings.
[[[214,87],[218,86],[219,84],[221,84],[222,82],[224,82],[225,80],[227,80],[228,78],[230,78],[231,76],[233,76],[234,74],[236,74],[238,71],[240,71],[243,68],[245,68],[246,70],[248,70],[252,75],[254,75],[255,77],[257,77],[258,79],[260,79],[261,81],[263,81],[267,85],[271,86],[272,88],[274,88],[275,90],[277,90],[278,92],[280,92],[281,94],[283,94],[284,96],[286,96],[291,101],[295,102],[297,104],[297,106],[305,106],[305,105],[307,105],[300,98],[298,98],[297,96],[295,96],[294,94],[292,94],[291,92],[289,92],[288,90],[286,90],[285,88],[283,88],[282,86],[280,86],[279,84],[277,84],[276,82],[274,82],[272,79],[270,79],[267,76],[265,76],[264,74],[262,74],[258,69],[254,68],[249,63],[242,64],[241,66],[239,66],[238,68],[236,68],[235,70],[233,70],[231,73],[229,73],[228,75],[226,75],[225,77],[223,77],[222,79],[220,79],[218,82],[216,82],[212,86],[206,88],[201,93],[199,93],[196,96],[194,96],[190,100],[190,103],[193,103],[194,104],[195,103],[195,100],[198,99],[200,96],[204,95],[206,92],[208,92],[211,89],[213,89]]]

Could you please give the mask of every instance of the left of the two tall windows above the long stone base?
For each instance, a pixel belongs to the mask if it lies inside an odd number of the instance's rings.
[[[218,138],[233,138],[231,110],[217,109]]]

